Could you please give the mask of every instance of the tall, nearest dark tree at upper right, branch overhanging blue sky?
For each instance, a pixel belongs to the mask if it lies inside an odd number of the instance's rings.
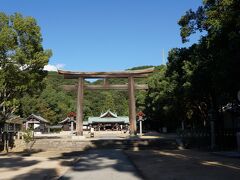
[[[196,12],[189,10],[179,20],[183,42],[197,31],[205,32],[199,42],[203,58],[199,58],[198,73],[208,76],[215,109],[224,103],[221,100],[235,99],[240,88],[239,4],[239,0],[204,0]]]

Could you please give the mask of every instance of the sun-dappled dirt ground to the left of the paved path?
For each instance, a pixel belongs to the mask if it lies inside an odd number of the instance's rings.
[[[0,155],[0,179],[57,179],[74,163],[75,156],[66,152],[9,153]]]

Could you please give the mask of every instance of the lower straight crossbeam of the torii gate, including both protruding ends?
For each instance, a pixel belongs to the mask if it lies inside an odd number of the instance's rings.
[[[63,85],[62,88],[66,91],[73,91],[77,89],[76,85]],[[135,84],[136,90],[147,90],[147,84]],[[128,90],[128,84],[105,84],[105,85],[84,85],[86,90]]]

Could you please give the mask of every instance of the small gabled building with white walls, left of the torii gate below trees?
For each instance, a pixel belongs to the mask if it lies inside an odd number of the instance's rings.
[[[34,130],[34,132],[37,133],[45,133],[48,132],[48,125],[49,121],[44,119],[41,116],[31,114],[30,116],[27,117],[26,122],[25,122],[25,128],[31,128]]]

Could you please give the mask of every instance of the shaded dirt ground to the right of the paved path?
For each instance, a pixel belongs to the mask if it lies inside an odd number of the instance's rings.
[[[195,150],[126,151],[147,180],[239,180],[240,159]]]

